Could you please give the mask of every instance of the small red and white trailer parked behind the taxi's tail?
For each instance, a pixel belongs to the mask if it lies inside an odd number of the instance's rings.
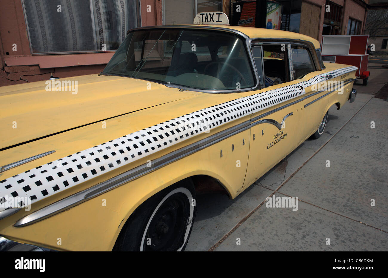
[[[356,66],[356,76],[362,85],[368,83],[369,35],[324,35],[321,55],[324,62]]]

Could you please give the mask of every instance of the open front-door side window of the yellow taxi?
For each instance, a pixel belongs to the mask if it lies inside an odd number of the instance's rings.
[[[263,45],[265,87],[289,81],[287,46]]]

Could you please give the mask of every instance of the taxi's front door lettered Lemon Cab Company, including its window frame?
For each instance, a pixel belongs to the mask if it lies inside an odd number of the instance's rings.
[[[288,155],[304,138],[304,88],[292,81],[289,52],[284,43],[251,47],[262,87],[263,104],[251,116],[251,138],[246,177],[249,186]]]

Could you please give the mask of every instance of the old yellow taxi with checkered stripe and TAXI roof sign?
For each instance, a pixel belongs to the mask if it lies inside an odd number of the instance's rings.
[[[182,251],[197,194],[235,198],[354,101],[357,68],[317,40],[203,18],[129,30],[100,74],[0,88],[0,250]]]

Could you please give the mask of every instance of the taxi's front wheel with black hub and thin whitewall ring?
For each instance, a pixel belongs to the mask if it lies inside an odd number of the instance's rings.
[[[185,179],[146,200],[125,223],[114,251],[184,251],[196,214],[194,185]]]

